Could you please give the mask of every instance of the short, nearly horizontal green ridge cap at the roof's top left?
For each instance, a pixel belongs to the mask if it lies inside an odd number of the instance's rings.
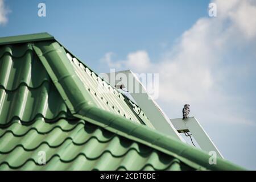
[[[18,36],[7,36],[0,38],[0,46],[6,44],[18,44],[25,42],[38,42],[43,40],[54,40],[55,38],[47,32],[39,34],[27,34]]]

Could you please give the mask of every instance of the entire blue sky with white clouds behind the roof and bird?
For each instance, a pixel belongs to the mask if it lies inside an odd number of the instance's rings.
[[[43,1],[46,17],[40,2],[0,0],[0,36],[49,32],[98,73],[159,73],[168,117],[190,104],[226,159],[256,169],[255,0]]]

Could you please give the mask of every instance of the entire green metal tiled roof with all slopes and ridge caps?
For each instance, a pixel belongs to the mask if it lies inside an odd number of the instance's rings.
[[[203,151],[156,131],[51,35],[0,45],[0,169],[242,169],[219,158],[210,165]]]

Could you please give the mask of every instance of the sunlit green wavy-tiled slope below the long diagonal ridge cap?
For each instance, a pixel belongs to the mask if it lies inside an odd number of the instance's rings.
[[[0,169],[194,169],[162,152],[82,120],[13,123],[1,132]],[[46,151],[47,165],[37,165]]]

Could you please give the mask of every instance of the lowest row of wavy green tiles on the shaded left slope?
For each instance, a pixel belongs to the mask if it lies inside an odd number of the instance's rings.
[[[55,86],[49,82],[42,82],[38,88],[28,88],[22,84],[11,91],[0,88],[0,101],[0,125],[7,125],[15,118],[30,122],[36,117],[50,120],[68,113]]]

